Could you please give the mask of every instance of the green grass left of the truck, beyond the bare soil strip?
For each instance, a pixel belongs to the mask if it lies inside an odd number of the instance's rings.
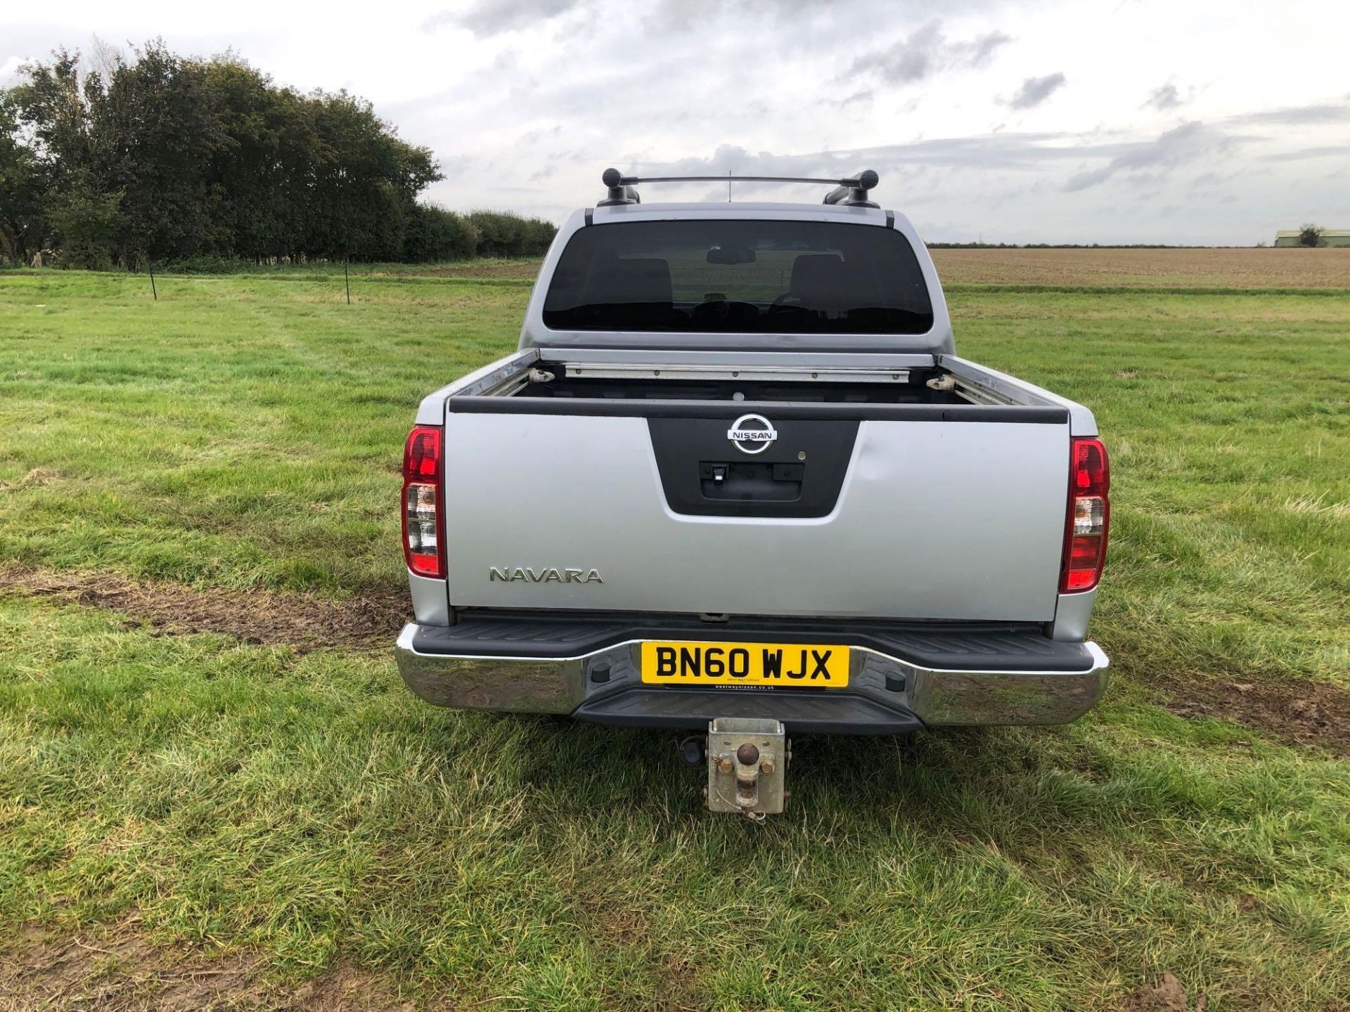
[[[417,402],[514,343],[528,286],[362,282],[351,306],[340,275],[159,287],[0,278],[0,556],[202,584],[398,579],[390,490]]]

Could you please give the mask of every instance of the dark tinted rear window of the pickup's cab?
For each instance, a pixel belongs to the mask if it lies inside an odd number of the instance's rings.
[[[544,298],[554,331],[927,333],[903,235],[838,221],[624,221],[582,228]]]

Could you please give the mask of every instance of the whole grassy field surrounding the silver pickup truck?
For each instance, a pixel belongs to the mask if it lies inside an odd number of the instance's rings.
[[[394,671],[402,436],[533,264],[0,274],[0,1008],[1350,1008],[1350,255],[967,252],[1112,451],[1111,691],[801,741],[764,826]]]

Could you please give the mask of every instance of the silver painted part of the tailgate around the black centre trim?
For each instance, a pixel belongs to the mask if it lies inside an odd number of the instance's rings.
[[[1066,428],[863,421],[832,513],[740,518],[670,509],[644,418],[451,412],[450,600],[1049,622]],[[491,567],[594,568],[603,583],[490,580]]]

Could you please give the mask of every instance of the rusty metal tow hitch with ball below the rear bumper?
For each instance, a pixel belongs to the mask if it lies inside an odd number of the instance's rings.
[[[686,738],[680,753],[698,765],[703,752],[698,738]],[[790,793],[783,789],[792,743],[780,721],[751,716],[718,716],[707,725],[709,811],[740,812],[763,822],[783,811]]]

